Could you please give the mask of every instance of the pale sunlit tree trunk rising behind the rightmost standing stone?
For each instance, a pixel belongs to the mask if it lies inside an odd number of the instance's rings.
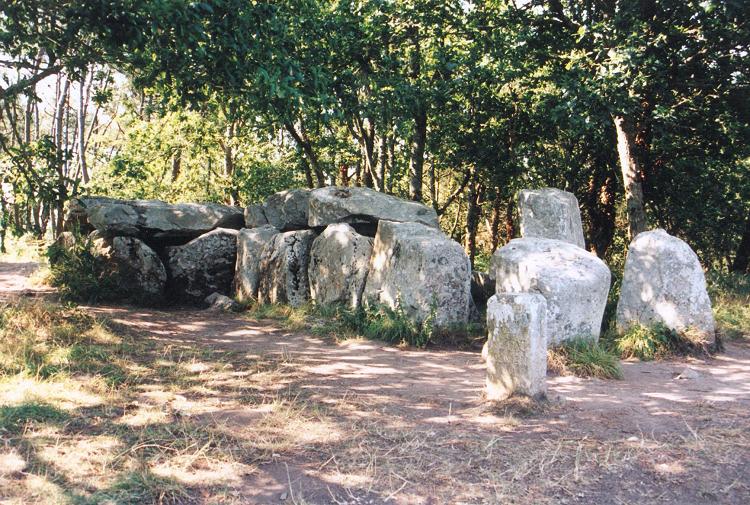
[[[630,121],[623,116],[613,116],[617,132],[617,153],[625,186],[625,204],[628,213],[630,238],[646,231],[646,209],[643,203],[641,169],[635,152],[635,137]]]

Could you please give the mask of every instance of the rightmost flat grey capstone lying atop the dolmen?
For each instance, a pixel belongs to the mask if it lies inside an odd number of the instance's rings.
[[[381,219],[401,223],[421,223],[438,228],[434,209],[369,188],[319,188],[310,193],[308,224],[331,223],[377,225]]]

